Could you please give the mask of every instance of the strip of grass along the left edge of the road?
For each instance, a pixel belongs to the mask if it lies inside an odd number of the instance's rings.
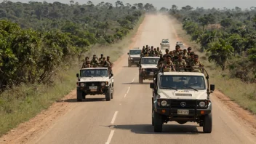
[[[137,32],[140,24],[143,23],[145,15],[140,17],[135,28],[119,43],[110,46],[95,45],[91,50],[84,54],[92,57],[103,53],[105,57],[109,55],[111,61],[116,61],[132,43],[132,37]],[[17,127],[18,124],[28,121],[42,110],[49,108],[56,100],[68,95],[71,90],[76,88],[76,73],[81,68],[81,63],[85,57],[74,57],[73,65],[64,68],[52,78],[53,84],[21,84],[12,87],[0,95],[0,136],[7,133],[10,129]]]

